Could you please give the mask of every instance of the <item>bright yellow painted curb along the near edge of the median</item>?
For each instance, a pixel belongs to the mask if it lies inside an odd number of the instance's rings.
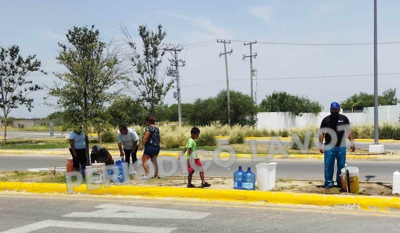
[[[0,190],[26,191],[31,193],[66,193],[66,184],[0,182]],[[108,188],[88,191],[82,184],[75,192],[90,194],[139,195],[146,197],[186,197],[220,201],[267,201],[280,204],[304,205],[358,205],[361,209],[400,209],[399,197],[378,197],[361,195],[326,195],[312,193],[290,193],[271,191],[246,191],[234,189],[187,189],[181,187],[146,187],[131,185],[111,185]]]

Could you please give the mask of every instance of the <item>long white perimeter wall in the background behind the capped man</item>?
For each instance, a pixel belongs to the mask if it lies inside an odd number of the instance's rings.
[[[342,112],[340,114],[343,114]],[[302,116],[294,117],[290,112],[259,112],[257,114],[258,128],[267,129],[290,129],[292,127],[303,127],[308,124],[320,125],[324,117],[329,116],[330,112],[320,114],[304,113]],[[345,113],[352,125],[372,125],[374,124],[374,108],[364,108],[362,113]],[[379,106],[379,122],[399,122],[400,104],[392,106]]]

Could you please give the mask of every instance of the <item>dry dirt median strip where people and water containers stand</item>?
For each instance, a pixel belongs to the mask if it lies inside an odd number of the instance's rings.
[[[166,187],[186,187],[188,180],[186,176],[161,177],[161,179],[150,179],[141,181],[140,176],[136,179],[131,175],[130,185],[138,186],[166,186]],[[57,173],[53,178],[49,172],[29,172],[29,171],[0,171],[0,181],[8,182],[38,182],[38,183],[65,183],[64,173]],[[233,179],[224,177],[206,177],[206,181],[216,189],[232,189]],[[200,177],[194,176],[192,184],[200,187]],[[374,195],[374,196],[395,196],[392,195],[391,183],[360,183],[357,194],[346,193],[341,188],[333,187],[324,189],[323,181],[302,181],[293,179],[276,179],[275,188],[272,191],[285,191],[294,193],[319,193],[319,194],[338,194],[338,195]],[[257,183],[256,183],[257,189]]]

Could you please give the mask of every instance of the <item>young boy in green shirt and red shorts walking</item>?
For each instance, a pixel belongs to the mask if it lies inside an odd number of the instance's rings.
[[[204,181],[204,169],[202,167],[202,164],[200,162],[200,159],[198,158],[197,155],[197,145],[196,145],[196,139],[198,139],[199,135],[200,135],[200,129],[198,129],[197,127],[192,128],[192,130],[190,130],[190,134],[192,135],[192,137],[190,137],[188,139],[188,143],[186,143],[186,147],[185,149],[182,151],[182,153],[176,157],[176,159],[180,159],[180,157],[182,157],[182,155],[184,155],[184,153],[187,151],[186,154],[186,158],[188,160],[188,188],[194,188],[195,186],[192,185],[192,176],[194,173],[194,168],[196,168],[197,170],[200,170],[200,179],[201,179],[201,187],[210,187],[211,185],[209,183],[207,183],[206,181]],[[192,158],[194,158],[194,164],[193,164],[193,160],[190,159],[190,157],[192,156]],[[192,163],[192,166],[190,166],[190,163]],[[194,167],[194,168],[193,168]]]

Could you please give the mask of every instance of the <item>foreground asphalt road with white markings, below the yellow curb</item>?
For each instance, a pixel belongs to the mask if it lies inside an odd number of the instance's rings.
[[[396,213],[264,203],[0,194],[0,213],[3,233],[399,232]]]

